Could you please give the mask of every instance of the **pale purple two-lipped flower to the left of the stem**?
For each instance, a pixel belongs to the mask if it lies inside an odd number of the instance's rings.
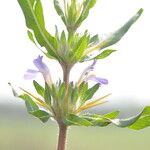
[[[51,86],[52,79],[50,75],[50,71],[45,63],[42,61],[43,56],[38,56],[36,59],[34,59],[33,63],[36,66],[38,70],[28,69],[24,75],[24,78],[26,80],[34,79],[38,73],[41,73],[43,75],[43,78],[45,82]]]

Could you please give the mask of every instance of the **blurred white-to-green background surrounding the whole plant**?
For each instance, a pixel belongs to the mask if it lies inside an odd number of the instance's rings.
[[[108,86],[103,86],[96,94],[112,93],[109,103],[90,110],[104,114],[119,110],[120,118],[139,113],[150,105],[150,2],[148,0],[97,0],[79,32],[89,29],[91,34],[105,38],[124,24],[139,8],[144,14],[126,36],[111,48],[118,50],[108,59],[99,61],[95,72],[107,78]],[[42,0],[45,8],[47,29],[54,33],[57,24],[64,29],[56,15],[52,0]],[[32,118],[26,112],[24,102],[13,97],[8,82],[16,89],[21,86],[33,91],[31,81],[25,81],[23,74],[27,68],[34,68],[32,61],[40,51],[28,40],[24,16],[17,0],[1,1],[0,5],[0,150],[54,150],[57,140],[55,122],[46,124]],[[55,61],[45,62],[50,67],[53,80],[62,78],[62,70]],[[71,80],[77,80],[82,70],[89,64],[77,64],[71,72]],[[43,83],[41,76],[37,80]],[[141,131],[107,128],[71,127],[69,129],[68,150],[149,150],[150,128]]]

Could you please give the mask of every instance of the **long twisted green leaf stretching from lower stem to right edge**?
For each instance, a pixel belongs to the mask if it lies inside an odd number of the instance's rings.
[[[82,115],[69,115],[66,124],[68,126],[77,125],[77,126],[100,126],[104,127],[109,124],[114,124],[117,127],[128,127],[129,129],[140,130],[150,126],[150,106],[144,108],[142,112],[138,115],[135,115],[126,119],[116,119],[119,112],[111,112],[103,116],[98,114],[82,114]],[[83,121],[83,123],[82,123]],[[88,124],[84,125],[84,121]],[[90,124],[89,124],[90,122]]]

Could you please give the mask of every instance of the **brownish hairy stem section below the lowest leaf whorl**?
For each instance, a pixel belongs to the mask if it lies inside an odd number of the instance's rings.
[[[65,150],[67,136],[67,126],[59,124],[59,137],[57,150]]]

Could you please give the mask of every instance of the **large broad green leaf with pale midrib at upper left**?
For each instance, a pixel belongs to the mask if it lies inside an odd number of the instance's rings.
[[[56,39],[45,28],[41,1],[18,0],[18,3],[24,13],[26,25],[29,29],[33,30],[37,42],[41,47],[45,47],[51,56],[58,58],[55,52]]]

